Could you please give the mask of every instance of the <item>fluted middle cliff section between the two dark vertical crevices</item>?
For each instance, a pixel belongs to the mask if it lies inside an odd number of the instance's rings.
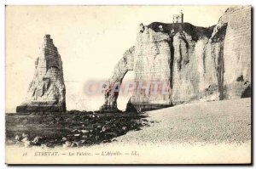
[[[207,34],[194,39],[185,31],[173,37],[172,104],[223,99],[220,72],[224,33],[214,39]]]

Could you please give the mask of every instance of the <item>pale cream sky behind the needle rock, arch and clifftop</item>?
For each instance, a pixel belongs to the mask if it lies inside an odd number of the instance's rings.
[[[184,22],[216,25],[229,6],[7,6],[6,112],[26,99],[45,34],[50,34],[63,63],[67,110],[97,110],[103,95],[89,96],[84,85],[106,81],[125,50],[135,44],[140,23],[172,23],[183,10]],[[124,81],[133,78],[133,72]],[[130,95],[119,95],[125,110]]]

